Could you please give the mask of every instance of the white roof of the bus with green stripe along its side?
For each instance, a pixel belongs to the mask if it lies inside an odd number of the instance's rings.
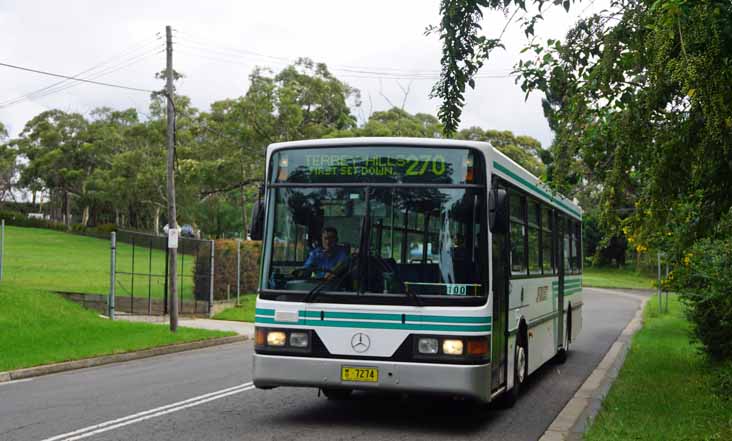
[[[278,142],[267,147],[267,164],[272,153],[281,149],[308,148],[308,147],[345,147],[345,146],[374,146],[374,145],[402,145],[408,147],[469,147],[483,153],[489,169],[532,196],[548,202],[552,206],[564,211],[577,219],[582,218],[582,209],[568,198],[553,191],[539,178],[532,175],[525,168],[518,165],[511,158],[504,155],[489,142],[467,141],[460,139],[437,138],[399,138],[399,137],[372,137],[372,138],[330,138],[305,141]],[[269,173],[269,171],[268,171]],[[269,178],[269,176],[268,176]]]

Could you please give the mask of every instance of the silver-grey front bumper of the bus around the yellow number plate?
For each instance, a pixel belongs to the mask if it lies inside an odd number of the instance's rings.
[[[379,369],[377,383],[341,381],[341,366]],[[490,364],[454,365],[254,354],[254,385],[427,392],[490,399]]]

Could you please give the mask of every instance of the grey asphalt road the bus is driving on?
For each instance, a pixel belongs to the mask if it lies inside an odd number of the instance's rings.
[[[585,289],[566,364],[529,379],[513,409],[431,397],[253,389],[252,344],[237,343],[0,383],[0,440],[535,440],[600,362],[639,301]]]

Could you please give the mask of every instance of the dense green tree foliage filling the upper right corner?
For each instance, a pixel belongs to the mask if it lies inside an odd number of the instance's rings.
[[[553,185],[581,175],[606,235],[637,250],[679,259],[709,235],[732,206],[732,4],[614,1],[530,48],[522,87],[546,94],[568,165]]]

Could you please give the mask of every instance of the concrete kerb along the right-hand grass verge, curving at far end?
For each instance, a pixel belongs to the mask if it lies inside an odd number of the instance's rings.
[[[643,327],[643,310],[650,300],[649,297],[641,297],[621,291],[593,289],[636,298],[641,301],[640,308],[607,351],[600,364],[587,377],[582,386],[564,406],[564,409],[559,412],[559,415],[549,425],[539,441],[575,441],[582,439],[582,434],[600,411],[602,400],[605,399],[610,386],[618,377],[618,372],[623,366],[633,335]]]

